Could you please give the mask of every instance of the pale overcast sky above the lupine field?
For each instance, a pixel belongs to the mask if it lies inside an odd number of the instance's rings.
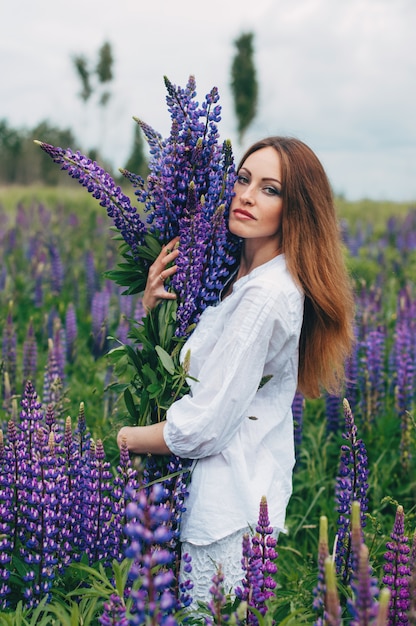
[[[218,87],[222,139],[236,159],[253,141],[291,135],[348,200],[416,201],[414,0],[0,0],[0,119],[70,128],[73,149],[125,165],[135,122],[167,135],[166,75],[198,100]],[[254,35],[255,120],[239,145],[230,89],[235,40]],[[74,55],[94,66],[108,41],[112,96],[79,97]],[[42,140],[42,137],[37,137]],[[62,146],[67,147],[67,146]]]

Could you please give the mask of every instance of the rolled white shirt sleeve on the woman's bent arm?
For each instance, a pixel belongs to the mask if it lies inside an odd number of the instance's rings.
[[[192,393],[167,412],[164,438],[176,455],[198,459],[223,450],[247,419],[271,343],[282,350],[293,330],[284,293],[253,285],[232,311],[206,355]],[[273,342],[271,342],[273,336]],[[191,353],[192,362],[192,353]]]

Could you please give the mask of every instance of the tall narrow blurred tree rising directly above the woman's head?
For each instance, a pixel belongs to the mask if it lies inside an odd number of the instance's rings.
[[[234,41],[237,52],[231,67],[231,90],[240,144],[257,111],[258,84],[253,61],[253,37],[253,33],[242,33]]]

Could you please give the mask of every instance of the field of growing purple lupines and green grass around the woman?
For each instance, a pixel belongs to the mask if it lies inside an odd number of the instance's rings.
[[[274,545],[259,503],[248,586],[231,606],[219,572],[190,611],[158,506],[174,478],[143,490],[115,443],[132,422],[107,354],[143,311],[105,277],[108,218],[72,187],[0,198],[0,624],[416,624],[416,210],[339,202],[357,300],[347,388],[295,398],[288,532]]]

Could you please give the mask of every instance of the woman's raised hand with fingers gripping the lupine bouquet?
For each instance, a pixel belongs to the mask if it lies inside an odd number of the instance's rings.
[[[146,311],[154,309],[161,300],[176,299],[176,294],[166,291],[164,283],[165,280],[173,276],[178,269],[175,264],[170,266],[179,254],[178,243],[179,237],[175,237],[175,239],[172,239],[172,241],[163,246],[159,256],[149,268],[142,300]]]

